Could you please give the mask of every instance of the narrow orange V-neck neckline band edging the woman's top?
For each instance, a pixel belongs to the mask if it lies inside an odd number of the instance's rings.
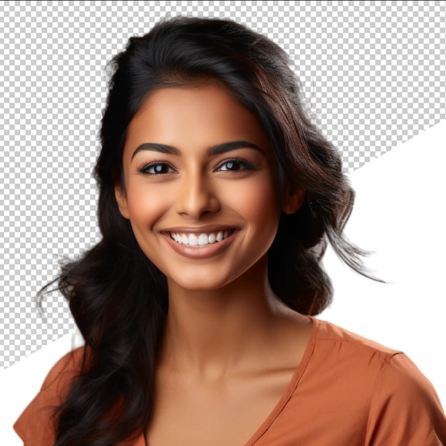
[[[274,420],[277,418],[279,413],[284,409],[286,403],[288,403],[289,399],[291,398],[291,395],[293,395],[294,391],[296,390],[297,385],[299,384],[299,381],[301,380],[302,375],[304,374],[304,371],[306,370],[306,367],[310,361],[311,356],[313,355],[314,347],[316,346],[316,333],[318,332],[319,323],[320,321],[316,318],[313,318],[312,316],[307,316],[311,319],[311,323],[313,324],[313,327],[311,329],[311,336],[308,339],[308,343],[306,345],[304,355],[302,356],[302,359],[299,363],[299,365],[296,367],[296,370],[294,371],[291,380],[289,382],[289,385],[286,387],[286,390],[284,394],[281,396],[278,403],[274,406],[273,410],[271,410],[271,413],[266,417],[264,422],[261,423],[259,428],[254,432],[253,435],[249,438],[249,440],[243,445],[243,446],[252,446],[254,443],[259,440],[259,438],[264,435],[266,430],[269,429],[271,424],[274,422]],[[133,446],[150,446],[147,445],[145,442],[145,435],[144,432],[140,435],[140,437],[137,438],[136,442]]]

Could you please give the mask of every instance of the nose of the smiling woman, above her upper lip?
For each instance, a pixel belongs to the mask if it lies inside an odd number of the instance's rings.
[[[185,176],[177,191],[177,214],[199,219],[204,214],[217,212],[219,208],[219,199],[210,179],[199,173]]]

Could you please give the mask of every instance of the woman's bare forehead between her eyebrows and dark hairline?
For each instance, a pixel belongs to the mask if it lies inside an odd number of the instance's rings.
[[[150,93],[130,122],[127,143],[213,145],[228,139],[254,140],[269,146],[256,116],[224,85],[214,82],[161,88]]]

